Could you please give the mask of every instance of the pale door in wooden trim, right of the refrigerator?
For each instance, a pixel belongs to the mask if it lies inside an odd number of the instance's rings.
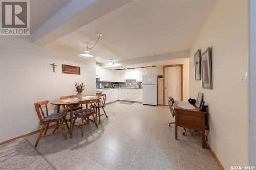
[[[168,105],[169,96],[172,96],[175,101],[181,101],[182,99],[181,72],[181,66],[164,69],[165,105]]]

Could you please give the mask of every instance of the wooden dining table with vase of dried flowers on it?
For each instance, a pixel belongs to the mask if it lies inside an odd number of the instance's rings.
[[[98,106],[100,105],[100,95],[96,95],[90,98],[90,96],[83,96],[83,99],[80,99],[82,101],[90,101],[90,100],[94,100],[94,99],[98,99]],[[72,98],[71,98],[72,99]],[[78,105],[79,100],[76,101],[72,101],[72,102],[63,102],[63,100],[55,100],[52,101],[51,104],[52,105],[58,105],[58,112],[59,112],[59,108],[61,105],[66,105],[68,108],[70,108],[70,128],[69,128],[69,134],[70,134],[70,138],[72,138],[72,131],[73,131],[73,111],[72,109],[74,108],[75,105]],[[99,122],[100,122],[100,109],[98,109],[99,112]],[[97,115],[96,115],[97,118]]]

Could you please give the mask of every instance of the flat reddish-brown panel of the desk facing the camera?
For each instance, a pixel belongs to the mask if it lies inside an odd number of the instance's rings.
[[[202,128],[202,116],[196,114],[178,113],[178,124]]]

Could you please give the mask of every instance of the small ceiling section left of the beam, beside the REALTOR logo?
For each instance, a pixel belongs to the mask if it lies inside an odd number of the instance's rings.
[[[30,32],[33,33],[71,0],[30,0]]]

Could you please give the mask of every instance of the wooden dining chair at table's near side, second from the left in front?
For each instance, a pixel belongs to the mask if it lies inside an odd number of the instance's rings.
[[[82,136],[83,136],[83,131],[84,131],[84,121],[86,121],[88,124],[89,124],[89,122],[94,122],[96,127],[98,128],[98,124],[97,124],[96,118],[94,116],[96,114],[96,107],[95,106],[97,105],[97,102],[98,102],[97,99],[94,99],[94,100],[91,100],[91,101],[82,101],[82,100],[80,100],[78,102],[80,105],[86,104],[86,108],[85,109],[82,108],[81,110],[78,110],[78,111],[74,112],[75,118],[74,118],[74,121],[73,121],[73,127],[76,126],[76,127],[80,128],[82,130]],[[90,106],[88,107],[88,105],[90,105]],[[90,119],[89,118],[90,116],[92,116],[93,119]],[[77,126],[77,125],[75,125],[75,122],[76,122],[76,119],[78,117],[82,119],[82,124]]]

